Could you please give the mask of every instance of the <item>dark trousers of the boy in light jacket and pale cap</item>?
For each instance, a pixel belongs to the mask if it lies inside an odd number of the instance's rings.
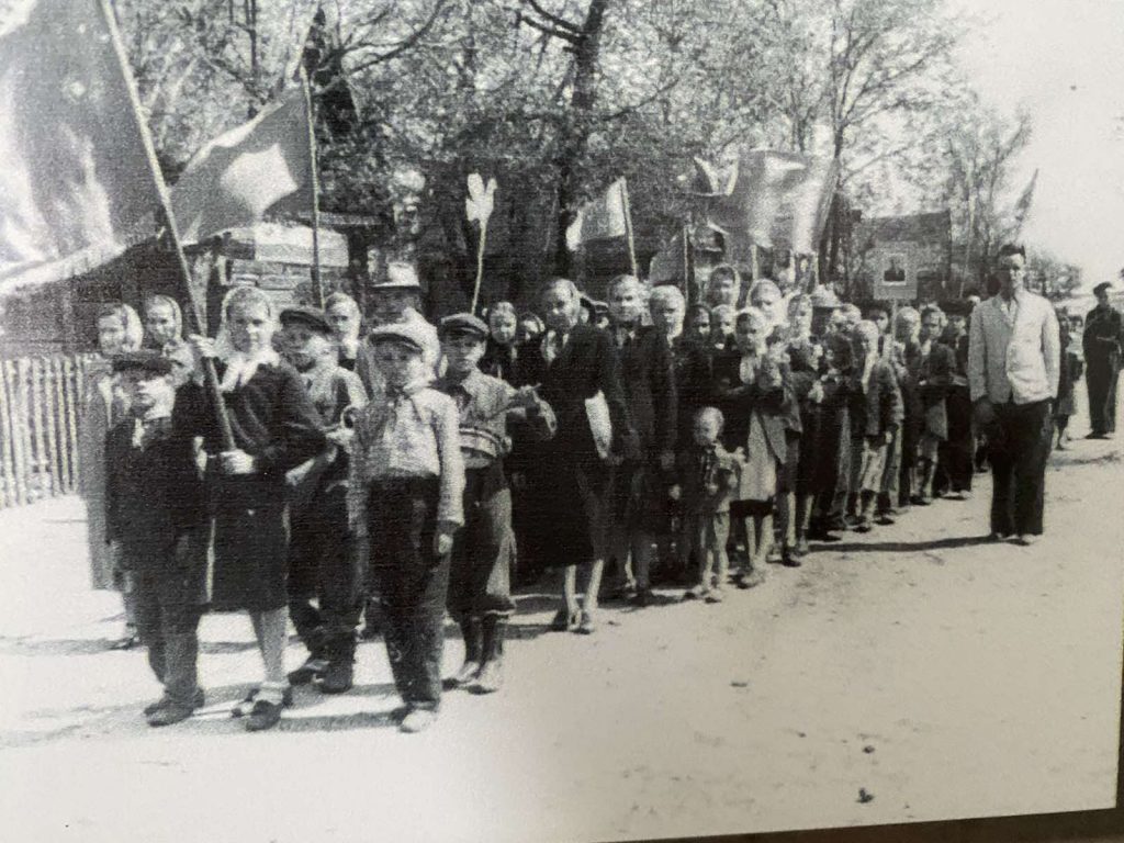
[[[402,700],[441,705],[441,655],[450,555],[434,553],[437,478],[401,478],[371,486],[368,536],[371,574],[383,613],[383,638]]]

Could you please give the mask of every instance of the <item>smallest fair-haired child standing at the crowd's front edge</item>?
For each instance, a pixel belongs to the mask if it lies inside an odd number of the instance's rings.
[[[681,505],[679,552],[686,569],[690,556],[697,571],[695,586],[685,600],[703,598],[722,602],[729,559],[729,501],[737,489],[738,462],[718,441],[725,419],[717,407],[704,407],[695,414],[694,442],[678,462],[678,482],[670,496]]]

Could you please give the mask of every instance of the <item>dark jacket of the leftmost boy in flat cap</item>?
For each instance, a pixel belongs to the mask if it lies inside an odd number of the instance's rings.
[[[107,537],[120,542],[126,568],[158,573],[176,538],[206,523],[203,486],[192,439],[171,419],[153,423],[140,447],[134,424],[125,418],[106,438]]]

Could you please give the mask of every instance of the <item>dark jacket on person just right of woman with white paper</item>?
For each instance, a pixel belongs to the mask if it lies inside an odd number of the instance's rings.
[[[611,335],[610,330],[610,335]],[[636,443],[645,455],[673,451],[679,433],[674,361],[667,338],[651,326],[638,327],[623,347],[620,383]]]

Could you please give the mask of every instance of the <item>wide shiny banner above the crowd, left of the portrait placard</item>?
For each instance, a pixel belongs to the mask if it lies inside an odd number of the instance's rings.
[[[722,180],[720,190],[703,193],[707,217],[754,245],[814,254],[836,175],[837,165],[831,158],[754,149],[741,156],[736,172]]]

